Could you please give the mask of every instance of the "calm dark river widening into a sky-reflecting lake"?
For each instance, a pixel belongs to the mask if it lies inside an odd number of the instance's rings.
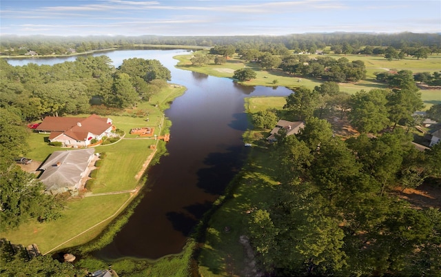
[[[286,96],[287,88],[249,87],[174,68],[176,54],[186,50],[119,50],[105,54],[117,67],[133,57],[157,59],[172,72],[172,83],[187,92],[174,100],[165,116],[172,121],[168,155],[148,170],[145,196],[114,241],[96,253],[105,259],[131,256],[156,259],[181,252],[189,232],[240,170],[247,148],[243,99]],[[68,58],[73,61],[74,58]],[[60,59],[9,60],[12,65],[54,64]],[[220,65],[221,67],[221,65]],[[147,193],[147,187],[150,191]]]

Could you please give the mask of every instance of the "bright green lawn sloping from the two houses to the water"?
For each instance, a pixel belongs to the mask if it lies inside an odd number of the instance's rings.
[[[132,127],[152,125],[156,127],[155,132],[159,132],[159,125],[161,125],[162,134],[164,134],[168,132],[171,123],[167,119],[163,121],[163,111],[170,106],[173,99],[184,92],[185,88],[170,85],[154,95],[150,103],[141,103],[137,110],[150,112],[148,122],[145,121],[145,116],[134,115],[136,110],[121,111],[118,116],[110,115],[109,117],[114,121],[114,125],[126,134]],[[65,148],[49,146],[45,142],[47,138],[48,134],[30,134],[28,140],[32,149],[28,154],[30,158],[35,161],[44,161],[52,152],[65,150]],[[143,169],[143,163],[152,153],[150,145],[153,143],[155,143],[154,139],[133,138],[123,139],[113,145],[96,147],[96,152],[105,152],[106,157],[96,174],[96,188],[92,190],[92,193],[123,191],[142,185],[135,176]],[[159,147],[162,151],[158,152],[163,153],[165,143],[162,141],[160,143],[162,145],[160,144]],[[11,243],[23,245],[37,243],[42,253],[58,245],[57,249],[81,245],[98,236],[106,225],[129,205],[131,199],[129,193],[70,199],[66,209],[62,212],[62,217],[58,220],[49,223],[37,223],[32,220],[21,225],[19,229],[3,232],[1,236],[8,238]],[[100,224],[96,225],[98,223]],[[81,236],[76,237],[79,234]],[[74,239],[70,240],[71,238]],[[64,242],[66,243],[63,244]]]

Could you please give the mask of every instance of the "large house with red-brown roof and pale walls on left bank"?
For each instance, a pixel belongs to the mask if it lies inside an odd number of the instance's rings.
[[[111,136],[112,119],[92,114],[86,118],[46,116],[35,129],[39,133],[50,133],[49,141],[59,141],[63,146],[87,147],[92,139],[100,141]]]

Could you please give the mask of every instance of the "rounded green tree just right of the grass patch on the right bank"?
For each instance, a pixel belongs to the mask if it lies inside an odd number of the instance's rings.
[[[317,92],[305,87],[293,91],[294,93],[287,97],[287,103],[283,106],[283,109],[293,112],[299,120],[312,116],[316,108]]]

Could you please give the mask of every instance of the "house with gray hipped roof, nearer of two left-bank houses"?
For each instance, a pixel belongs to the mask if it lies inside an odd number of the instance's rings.
[[[55,151],[40,166],[39,180],[46,192],[59,194],[79,189],[81,178],[88,174],[88,165],[94,158],[94,149]]]

